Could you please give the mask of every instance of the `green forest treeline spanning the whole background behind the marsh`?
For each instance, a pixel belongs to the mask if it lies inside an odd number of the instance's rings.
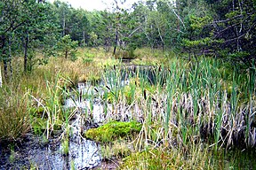
[[[75,58],[77,46],[103,46],[107,51],[136,48],[177,50],[188,59],[200,55],[254,65],[255,0],[147,0],[122,8],[87,12],[70,4],[42,0],[1,0],[0,61],[4,76],[12,76],[12,58],[23,57],[32,70],[36,52],[45,58],[64,52]]]

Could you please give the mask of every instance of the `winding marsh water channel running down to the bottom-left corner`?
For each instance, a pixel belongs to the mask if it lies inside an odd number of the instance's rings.
[[[81,129],[87,121],[90,125],[99,125],[111,112],[111,104],[101,98],[106,92],[106,86],[124,86],[134,76],[144,76],[148,82],[156,82],[155,72],[151,67],[142,67],[138,72],[136,66],[126,66],[121,69],[120,81],[113,82],[111,74],[116,68],[108,72],[97,84],[90,82],[78,83],[76,92],[65,100],[64,108],[76,108],[74,119],[69,121],[72,131],[69,139],[68,155],[63,155],[61,132],[47,140],[40,136],[27,135],[20,143],[1,143],[0,169],[91,169],[100,165],[100,146],[93,141],[86,140],[81,135]],[[116,84],[118,83],[118,84]],[[72,92],[71,92],[72,94]],[[90,97],[89,97],[90,96]],[[89,98],[89,99],[88,99]]]

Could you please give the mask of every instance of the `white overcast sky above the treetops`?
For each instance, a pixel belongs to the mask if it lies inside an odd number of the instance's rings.
[[[54,0],[48,0],[53,2]],[[62,2],[68,2],[74,8],[83,8],[84,10],[92,12],[93,10],[105,10],[107,7],[111,7],[111,4],[114,2],[113,0],[60,0]],[[128,7],[132,6],[134,2],[138,2],[138,0],[126,0],[125,4]]]

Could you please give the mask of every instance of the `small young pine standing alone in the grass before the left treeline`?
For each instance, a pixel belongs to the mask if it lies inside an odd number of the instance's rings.
[[[60,39],[60,42],[57,43],[57,47],[61,52],[65,54],[65,58],[67,59],[69,55],[71,57],[75,56],[78,42],[72,41],[70,35],[65,35]]]

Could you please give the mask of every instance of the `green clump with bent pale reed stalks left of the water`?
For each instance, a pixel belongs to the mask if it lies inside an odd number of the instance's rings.
[[[64,89],[68,85],[68,80],[63,79],[57,74],[52,83],[45,81],[44,102],[31,96],[37,105],[32,107],[30,112],[31,127],[36,135],[44,133],[49,139],[52,132],[62,128],[70,114],[70,111],[64,111],[62,106],[62,99],[67,95]]]

